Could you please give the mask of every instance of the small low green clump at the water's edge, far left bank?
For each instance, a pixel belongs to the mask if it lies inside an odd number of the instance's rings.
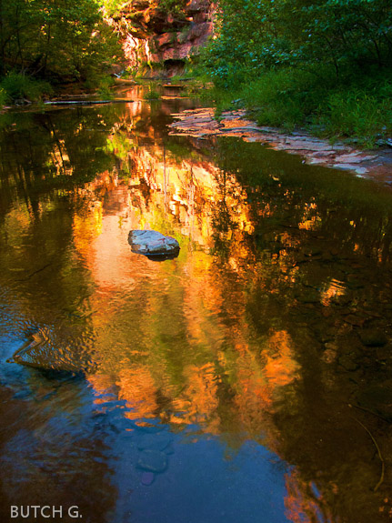
[[[35,80],[26,75],[20,75],[11,71],[0,83],[0,92],[3,92],[4,99],[9,101],[18,98],[29,100],[39,100],[43,95],[50,95],[53,89],[45,81]]]

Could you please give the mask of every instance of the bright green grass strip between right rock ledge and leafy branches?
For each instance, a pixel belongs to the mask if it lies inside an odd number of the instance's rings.
[[[350,137],[361,146],[375,146],[392,135],[392,81],[387,72],[372,78],[316,75],[312,68],[267,71],[236,89],[215,87],[210,96],[216,116],[244,107],[261,126],[287,131],[307,128],[318,136]]]

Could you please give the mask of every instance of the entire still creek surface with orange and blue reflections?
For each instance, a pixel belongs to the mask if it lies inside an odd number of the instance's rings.
[[[2,122],[1,520],[391,521],[391,191],[140,95]]]

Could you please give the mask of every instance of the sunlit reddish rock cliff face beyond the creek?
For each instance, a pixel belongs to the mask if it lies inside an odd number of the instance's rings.
[[[171,12],[156,0],[132,0],[110,23],[123,37],[128,65],[164,64],[176,73],[213,35],[215,13],[212,0],[178,2]]]

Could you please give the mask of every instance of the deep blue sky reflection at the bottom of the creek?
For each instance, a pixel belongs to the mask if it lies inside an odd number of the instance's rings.
[[[144,455],[148,460],[149,454],[157,451],[134,448],[130,453],[126,448],[132,446],[132,440],[126,439],[125,443],[119,439],[116,483],[122,494],[114,520],[126,521],[126,517],[140,522],[192,523],[287,520],[285,466],[266,448],[245,442],[233,453],[219,438],[170,436],[167,468],[156,474],[151,484],[148,473],[135,468],[135,461],[140,467]]]

